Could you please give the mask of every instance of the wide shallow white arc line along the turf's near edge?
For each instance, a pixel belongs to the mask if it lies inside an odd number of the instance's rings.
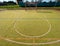
[[[25,45],[44,45],[44,44],[54,44],[54,43],[60,42],[60,40],[57,40],[57,41],[44,42],[44,43],[25,43],[25,42],[16,42],[16,41],[10,40],[10,39],[4,39],[4,40],[9,41],[9,42],[12,42],[12,43],[25,44]]]

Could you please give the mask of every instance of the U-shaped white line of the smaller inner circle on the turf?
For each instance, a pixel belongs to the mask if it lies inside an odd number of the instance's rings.
[[[46,19],[46,18],[45,18],[45,19]],[[47,19],[46,19],[46,21],[47,21],[48,24],[49,24],[49,29],[48,29],[48,31],[47,31],[46,33],[44,33],[44,34],[42,34],[42,35],[40,35],[40,36],[28,36],[28,35],[22,34],[21,32],[19,32],[19,31],[16,29],[16,27],[15,27],[16,23],[14,23],[14,29],[15,29],[15,31],[16,31],[19,35],[24,36],[24,37],[43,37],[43,36],[47,35],[47,34],[51,31],[51,24],[49,23],[49,21],[48,21]],[[16,21],[15,21],[15,22],[16,22]]]

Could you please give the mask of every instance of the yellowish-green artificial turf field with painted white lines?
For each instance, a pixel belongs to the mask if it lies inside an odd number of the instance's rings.
[[[0,46],[60,46],[60,11],[0,11]]]

